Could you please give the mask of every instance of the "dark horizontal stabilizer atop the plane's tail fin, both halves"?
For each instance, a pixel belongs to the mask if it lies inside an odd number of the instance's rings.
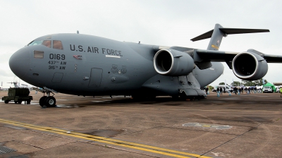
[[[246,28],[219,28],[223,34],[231,35],[231,34],[243,34],[243,33],[259,33],[259,32],[269,32],[269,30],[266,29],[246,29]],[[192,42],[207,39],[212,37],[212,33],[214,30],[210,30],[209,32],[205,32],[204,34],[197,36],[192,40]]]

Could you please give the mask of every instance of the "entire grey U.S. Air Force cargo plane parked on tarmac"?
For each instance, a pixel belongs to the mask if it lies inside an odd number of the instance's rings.
[[[262,29],[223,28],[216,24],[191,39],[211,38],[207,50],[118,42],[92,35],[54,34],[38,37],[16,51],[9,66],[18,78],[41,87],[47,94],[42,107],[56,105],[51,93],[102,96],[131,95],[134,99],[156,96],[198,97],[200,89],[223,73],[224,61],[242,80],[258,80],[267,63],[281,63],[282,56],[219,51],[222,37],[231,34],[269,32]]]

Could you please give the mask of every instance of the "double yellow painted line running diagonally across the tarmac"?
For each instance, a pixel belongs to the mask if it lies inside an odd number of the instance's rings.
[[[35,125],[32,125],[32,124],[21,123],[21,122],[16,122],[16,121],[9,121],[9,120],[5,120],[5,119],[0,119],[0,123],[5,123],[5,124],[8,124],[8,125],[12,125],[12,126],[29,128],[29,129],[33,129],[33,130],[41,130],[41,131],[56,133],[56,134],[60,134],[60,135],[67,135],[67,136],[71,136],[71,137],[75,137],[75,138],[81,138],[81,139],[84,139],[84,140],[92,140],[94,142],[103,142],[103,143],[109,144],[109,145],[116,145],[116,146],[120,146],[120,147],[127,147],[127,148],[131,148],[131,149],[135,149],[135,150],[145,151],[145,152],[163,154],[163,155],[170,156],[170,157],[192,156],[192,157],[200,157],[200,158],[210,158],[210,157],[206,157],[206,156],[201,156],[200,154],[180,152],[180,151],[177,151],[177,150],[169,150],[169,149],[165,149],[165,148],[161,148],[161,147],[154,147],[154,146],[150,146],[150,145],[142,145],[142,144],[138,144],[138,143],[135,143],[135,142],[126,142],[126,141],[123,141],[123,140],[115,140],[115,139],[111,139],[111,138],[99,137],[99,136],[94,136],[94,135],[87,135],[87,134],[83,134],[83,133],[76,133],[76,132],[72,132],[72,131],[68,131],[68,130],[61,130],[59,128],[35,126]]]

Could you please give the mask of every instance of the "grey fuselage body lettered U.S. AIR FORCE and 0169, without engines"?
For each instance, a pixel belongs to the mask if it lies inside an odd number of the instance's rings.
[[[222,63],[212,62],[187,76],[160,75],[153,63],[156,47],[92,35],[46,35],[16,51],[9,64],[31,85],[92,96],[176,95],[183,86],[200,89],[223,73]]]

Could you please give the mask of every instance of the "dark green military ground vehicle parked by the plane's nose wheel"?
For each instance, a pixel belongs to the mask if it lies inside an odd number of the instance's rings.
[[[8,89],[8,96],[2,97],[2,100],[8,104],[13,100],[16,104],[21,104],[23,101],[26,101],[27,104],[30,104],[33,99],[30,95],[30,90],[25,87],[11,87]]]

